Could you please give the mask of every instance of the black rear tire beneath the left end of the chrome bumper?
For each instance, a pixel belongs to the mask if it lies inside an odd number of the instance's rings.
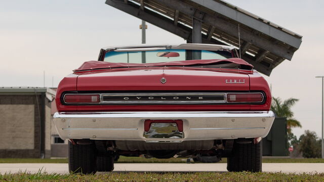
[[[95,145],[73,145],[71,142],[68,145],[70,173],[96,173]]]

